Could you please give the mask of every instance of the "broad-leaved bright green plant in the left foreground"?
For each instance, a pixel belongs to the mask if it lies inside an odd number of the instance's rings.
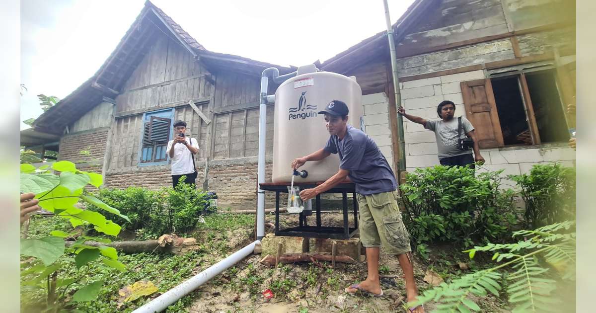
[[[60,172],[60,175],[51,173]],[[75,164],[60,161],[39,168],[28,163],[21,164],[20,187],[23,193],[35,193],[39,206],[54,213],[54,218],[66,219],[72,227],[93,228],[95,231],[116,237],[120,226],[105,218],[100,212],[83,210],[76,206],[80,200],[93,204],[103,211],[128,220],[119,210],[108,206],[85,191],[87,185],[99,187],[103,177],[97,173],[83,172]],[[84,233],[84,231],[83,231]],[[68,239],[68,241],[67,241]],[[46,311],[60,311],[76,302],[92,301],[97,297],[103,280],[89,277],[89,264],[101,263],[104,266],[125,271],[118,261],[116,249],[108,246],[91,246],[87,241],[110,243],[105,238],[82,235],[76,230],[53,230],[45,237],[21,239],[21,256],[32,257],[21,265],[21,284],[30,289],[45,289]],[[76,278],[63,278],[61,269],[76,266]],[[66,301],[66,291],[72,284],[80,288]]]

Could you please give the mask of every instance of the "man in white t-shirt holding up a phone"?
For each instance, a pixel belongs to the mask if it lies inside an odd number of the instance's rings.
[[[195,186],[197,169],[194,165],[194,154],[198,153],[198,142],[195,138],[186,137],[186,122],[174,122],[174,140],[167,142],[167,154],[172,159],[172,185],[176,188],[181,176],[184,182]]]

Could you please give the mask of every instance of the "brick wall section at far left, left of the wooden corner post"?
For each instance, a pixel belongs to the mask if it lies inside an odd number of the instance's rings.
[[[107,128],[64,135],[60,139],[58,160],[69,160],[82,171],[101,173],[107,135]],[[89,154],[81,154],[80,151],[89,151]]]

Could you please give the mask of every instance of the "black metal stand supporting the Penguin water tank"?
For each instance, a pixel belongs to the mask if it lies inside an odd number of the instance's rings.
[[[280,193],[287,193],[290,184],[261,184],[260,189],[266,191],[275,191],[275,235],[293,236],[293,237],[312,237],[312,238],[331,238],[331,239],[349,239],[358,230],[358,201],[356,200],[356,190],[353,183],[339,184],[324,193],[342,194],[343,209],[343,227],[321,226],[321,195],[315,199],[316,226],[306,224],[306,216],[300,213],[299,226],[280,230]],[[294,186],[300,187],[300,190],[315,188],[315,183],[298,183]],[[354,227],[348,225],[347,212],[347,194],[353,195],[354,207]]]

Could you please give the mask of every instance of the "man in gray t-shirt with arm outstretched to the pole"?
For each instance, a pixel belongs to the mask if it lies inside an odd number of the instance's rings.
[[[398,113],[414,123],[424,125],[424,128],[434,132],[437,138],[437,150],[439,151],[439,163],[448,166],[466,166],[475,168],[474,161],[483,163],[485,159],[480,155],[480,147],[474,135],[474,126],[465,117],[461,117],[461,137],[458,129],[458,119],[454,119],[455,104],[452,101],[445,100],[437,106],[437,115],[441,120],[426,120],[420,116],[407,114],[403,107],[399,107]],[[474,157],[471,150],[460,150],[460,139],[464,139],[464,134],[474,141]]]

